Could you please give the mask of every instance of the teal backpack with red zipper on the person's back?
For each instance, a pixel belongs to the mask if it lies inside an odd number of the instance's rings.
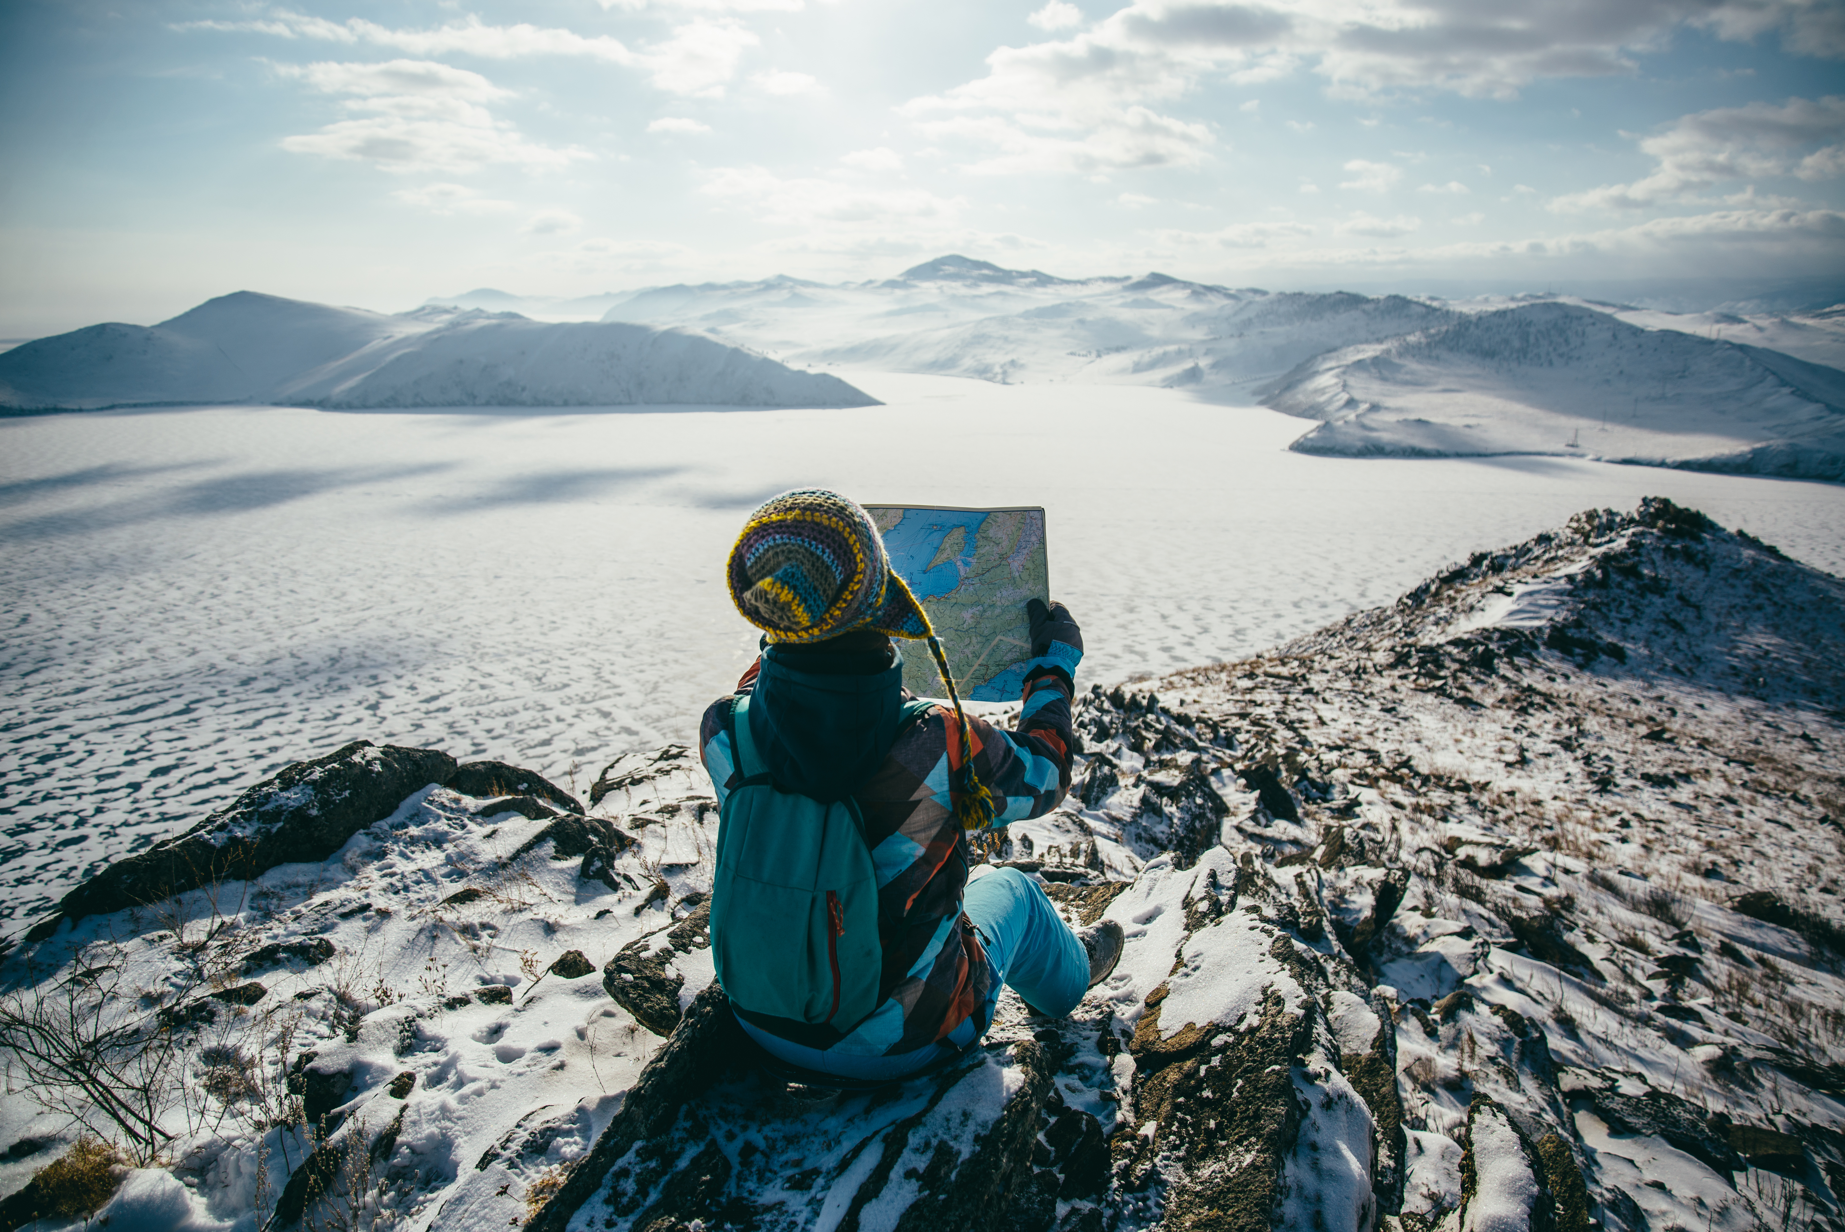
[[[932,705],[906,703],[899,730]],[[775,788],[749,734],[749,697],[736,699],[731,745],[744,782],[718,815],[718,983],[740,1009],[845,1035],[878,1007],[884,970],[865,819],[851,797],[821,804]]]

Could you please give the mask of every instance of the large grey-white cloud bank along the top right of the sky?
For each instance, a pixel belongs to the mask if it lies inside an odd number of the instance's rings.
[[[1845,55],[1845,6],[1832,0],[1129,0],[1081,31],[994,48],[982,77],[902,113],[1002,155],[978,170],[1196,166],[1212,153],[1210,129],[1173,109],[1207,81],[1310,66],[1347,98],[1513,98],[1541,79],[1631,74],[1635,52],[1686,24],[1721,39],[1782,30],[1801,33],[1797,53]]]

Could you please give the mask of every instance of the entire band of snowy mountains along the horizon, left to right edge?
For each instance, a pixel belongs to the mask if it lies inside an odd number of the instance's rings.
[[[0,354],[0,408],[873,402],[799,367],[1186,389],[1319,421],[1293,444],[1315,454],[1557,454],[1845,480],[1845,306],[1734,315],[1568,295],[1268,291],[1162,273],[1059,278],[959,255],[845,284],[777,275],[579,299],[482,288],[399,315],[240,291],[157,326],[98,325]]]

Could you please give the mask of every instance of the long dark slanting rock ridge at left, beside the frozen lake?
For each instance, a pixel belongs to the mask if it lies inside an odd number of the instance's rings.
[[[179,837],[118,859],[83,882],[26,939],[50,937],[61,920],[148,906],[214,882],[249,880],[280,863],[325,859],[365,826],[395,813],[404,797],[443,782],[454,769],[456,760],[446,752],[380,747],[369,740],[295,762]]]

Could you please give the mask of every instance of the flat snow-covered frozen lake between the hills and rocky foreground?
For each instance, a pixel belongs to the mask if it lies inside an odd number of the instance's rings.
[[[1288,454],[1312,424],[1122,385],[841,373],[847,411],[105,411],[0,421],[0,920],[349,740],[587,788],[755,651],[744,515],[1044,505],[1083,684],[1262,649],[1592,505],[1670,496],[1845,572],[1845,487]]]

